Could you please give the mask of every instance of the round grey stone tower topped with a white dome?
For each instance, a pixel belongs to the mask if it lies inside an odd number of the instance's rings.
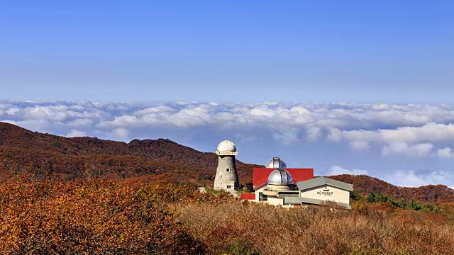
[[[235,166],[235,155],[238,155],[238,152],[235,144],[228,140],[220,142],[216,154],[218,154],[218,168],[214,178],[214,189],[235,191],[239,186]]]

